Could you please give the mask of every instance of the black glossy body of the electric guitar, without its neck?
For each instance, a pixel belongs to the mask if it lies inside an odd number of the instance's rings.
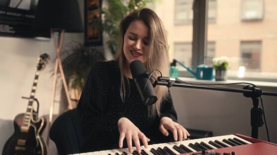
[[[22,126],[23,118],[24,114],[15,117],[13,122],[14,133],[5,143],[2,154],[47,155],[47,147],[41,136],[46,127],[46,120],[44,118],[34,119],[37,118],[37,114],[33,113],[28,131],[22,132],[20,126]]]

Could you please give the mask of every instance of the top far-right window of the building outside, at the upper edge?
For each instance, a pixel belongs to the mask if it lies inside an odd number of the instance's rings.
[[[264,0],[242,0],[241,20],[261,20],[264,16]]]

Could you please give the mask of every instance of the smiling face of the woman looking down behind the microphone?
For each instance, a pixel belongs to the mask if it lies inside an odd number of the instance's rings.
[[[142,63],[147,61],[145,54],[149,51],[148,28],[143,21],[133,21],[130,23],[125,35],[123,52],[127,59],[127,65],[134,60]]]

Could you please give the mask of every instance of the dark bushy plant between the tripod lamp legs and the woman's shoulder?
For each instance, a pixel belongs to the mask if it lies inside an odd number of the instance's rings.
[[[103,51],[95,47],[85,47],[81,43],[73,44],[73,47],[62,52],[62,68],[73,101],[73,107],[77,106],[85,80],[90,69],[98,61],[104,61]]]

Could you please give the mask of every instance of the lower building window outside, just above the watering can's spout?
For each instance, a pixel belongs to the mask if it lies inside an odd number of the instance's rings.
[[[186,67],[190,67],[191,57],[192,57],[191,42],[174,43],[174,59],[180,61]],[[183,67],[180,67],[180,68],[183,68]]]

